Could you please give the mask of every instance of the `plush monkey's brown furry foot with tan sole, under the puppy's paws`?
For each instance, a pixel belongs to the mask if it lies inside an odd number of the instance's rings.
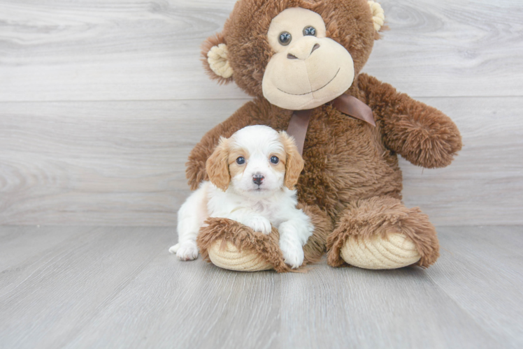
[[[264,235],[227,218],[209,218],[206,223],[196,239],[204,260],[238,272],[291,271],[278,246],[277,229]]]

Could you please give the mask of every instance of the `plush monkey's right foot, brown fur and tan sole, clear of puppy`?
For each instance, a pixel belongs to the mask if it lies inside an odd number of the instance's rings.
[[[429,267],[439,256],[436,229],[417,207],[387,196],[358,200],[327,238],[327,262],[365,269]]]

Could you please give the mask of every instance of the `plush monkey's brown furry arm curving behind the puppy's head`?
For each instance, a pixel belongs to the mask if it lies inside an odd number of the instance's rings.
[[[187,166],[185,177],[188,179],[191,190],[196,190],[201,181],[208,180],[205,164],[210,154],[213,154],[220,136],[229,138],[233,133],[245,126],[259,124],[257,120],[259,114],[259,108],[255,102],[245,103],[229,119],[203,135],[201,141],[192,149],[189,154],[189,160],[185,164]]]

